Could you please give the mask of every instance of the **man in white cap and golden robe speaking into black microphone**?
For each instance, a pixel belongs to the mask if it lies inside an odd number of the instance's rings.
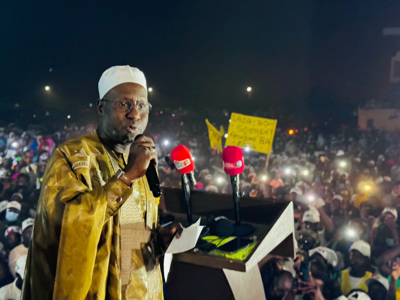
[[[157,164],[146,79],[114,66],[98,84],[95,133],[56,149],[43,179],[22,299],[163,299],[158,200],[144,174]],[[160,236],[162,238],[160,238]],[[157,238],[158,237],[158,238]]]

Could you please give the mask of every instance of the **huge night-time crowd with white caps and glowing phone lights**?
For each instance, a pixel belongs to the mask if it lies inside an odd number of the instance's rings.
[[[52,130],[17,124],[0,128],[0,300],[19,299],[52,152],[95,127]],[[164,157],[184,144],[196,165],[194,188],[232,192],[221,155],[210,149],[205,122],[183,110],[157,111],[145,134],[158,151],[162,186],[179,188],[180,175]],[[390,132],[326,134],[310,127],[289,134],[277,128],[268,167],[265,154],[244,151],[244,196],[294,205],[297,254],[274,256],[261,267],[268,300],[400,299],[399,141],[400,135]]]

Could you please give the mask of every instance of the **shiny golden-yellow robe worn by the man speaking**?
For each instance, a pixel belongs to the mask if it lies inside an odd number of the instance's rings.
[[[140,250],[156,227],[157,199],[145,177],[132,188],[116,178],[115,164],[123,168],[126,159],[97,134],[56,149],[38,202],[23,300],[163,299],[160,268],[147,272]]]

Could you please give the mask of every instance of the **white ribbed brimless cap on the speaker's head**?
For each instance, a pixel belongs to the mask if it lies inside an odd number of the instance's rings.
[[[100,77],[99,98],[102,99],[114,86],[125,82],[140,84],[147,93],[146,78],[142,71],[130,66],[114,66],[105,70]]]

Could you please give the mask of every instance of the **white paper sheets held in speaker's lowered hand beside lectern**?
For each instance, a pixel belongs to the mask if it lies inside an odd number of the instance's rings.
[[[172,254],[181,253],[193,249],[196,246],[204,226],[200,226],[200,218],[196,223],[182,230],[180,238],[174,237],[170,246],[164,254],[164,278],[167,281],[168,273],[170,272]]]

